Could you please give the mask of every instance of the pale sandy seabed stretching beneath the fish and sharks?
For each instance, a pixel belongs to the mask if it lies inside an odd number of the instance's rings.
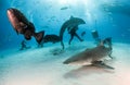
[[[130,85],[130,45],[113,44],[114,59],[107,64],[115,70],[63,64],[70,56],[94,46],[77,45],[56,56],[57,46],[2,52],[0,85]]]

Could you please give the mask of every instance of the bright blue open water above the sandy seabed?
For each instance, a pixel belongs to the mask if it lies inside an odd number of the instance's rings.
[[[86,21],[77,33],[80,35],[86,31],[82,38],[87,41],[94,41],[91,31],[96,29],[101,38],[112,37],[113,42],[130,42],[129,0],[0,0],[0,50],[20,48],[24,39],[9,22],[9,8],[21,10],[35,24],[37,32],[58,35],[62,24],[73,15]],[[64,41],[68,40],[66,32]],[[34,38],[27,44],[37,47]]]

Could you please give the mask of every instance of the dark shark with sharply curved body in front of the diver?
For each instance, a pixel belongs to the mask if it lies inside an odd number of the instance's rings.
[[[74,17],[74,16],[70,16],[69,20],[67,20],[65,23],[63,23],[61,31],[60,31],[60,38],[61,38],[61,44],[63,46],[63,49],[64,49],[63,35],[64,35],[65,29],[68,27],[70,28],[76,25],[80,25],[80,24],[86,24],[86,22],[82,19]]]

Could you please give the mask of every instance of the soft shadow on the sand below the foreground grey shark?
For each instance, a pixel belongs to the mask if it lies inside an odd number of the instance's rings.
[[[101,66],[94,66],[94,65],[83,65],[81,68],[78,68],[76,70],[72,70],[68,73],[64,74],[64,78],[79,78],[82,76],[89,76],[93,74],[104,74],[109,73],[113,74],[114,70],[110,69],[104,69]]]

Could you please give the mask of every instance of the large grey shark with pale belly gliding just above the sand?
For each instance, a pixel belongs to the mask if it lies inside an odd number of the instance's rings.
[[[65,60],[64,64],[80,64],[80,65],[103,65],[109,69],[113,69],[108,65],[105,65],[102,60],[112,53],[112,47],[105,47],[104,45],[100,45],[92,49],[86,49],[82,52],[79,52],[67,60]]]

